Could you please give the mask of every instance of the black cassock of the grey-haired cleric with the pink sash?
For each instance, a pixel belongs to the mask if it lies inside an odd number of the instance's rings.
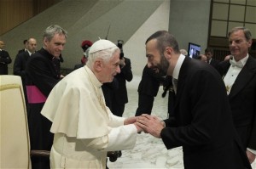
[[[41,115],[45,100],[30,102],[28,94],[29,87],[37,87],[39,92],[47,98],[55,84],[60,81],[53,58],[52,54],[41,48],[31,55],[26,65],[26,92],[31,111],[28,116],[31,149],[50,150],[53,144],[53,133],[49,132],[51,122]],[[49,168],[49,159],[32,156],[32,168]]]

